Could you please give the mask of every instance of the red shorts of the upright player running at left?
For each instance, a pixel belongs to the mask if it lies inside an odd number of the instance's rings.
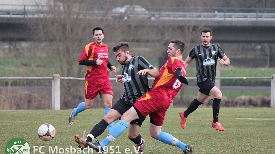
[[[85,98],[92,100],[97,96],[98,93],[113,95],[113,89],[112,89],[110,80],[102,84],[94,84],[86,81]]]

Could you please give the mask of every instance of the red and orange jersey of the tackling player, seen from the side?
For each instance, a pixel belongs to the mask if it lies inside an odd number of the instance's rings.
[[[177,68],[181,69],[182,75],[185,77],[185,64],[182,58],[170,57],[166,63],[160,68],[160,76],[155,78],[152,85],[152,89],[148,94],[154,99],[159,99],[159,101],[169,101],[172,100],[183,86],[183,83],[179,82],[174,73]]]

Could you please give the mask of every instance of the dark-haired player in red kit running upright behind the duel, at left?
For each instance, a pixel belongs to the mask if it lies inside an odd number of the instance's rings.
[[[85,102],[78,104],[72,110],[69,117],[69,124],[73,125],[74,119],[79,112],[89,109],[93,106],[95,97],[100,94],[105,106],[105,115],[112,107],[113,90],[111,87],[110,76],[107,68],[116,72],[116,67],[109,62],[109,46],[102,42],[104,30],[102,27],[93,29],[93,38],[95,41],[87,44],[78,60],[80,65],[88,67],[85,76]],[[113,123],[108,126],[110,131]]]

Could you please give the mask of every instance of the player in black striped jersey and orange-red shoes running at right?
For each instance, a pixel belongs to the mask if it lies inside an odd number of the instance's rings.
[[[215,86],[216,78],[216,68],[217,61],[222,65],[229,65],[229,58],[223,53],[223,50],[216,44],[211,44],[212,31],[209,28],[205,28],[201,31],[201,41],[202,44],[195,46],[191,49],[188,57],[184,60],[185,67],[188,67],[188,64],[192,59],[196,59],[196,68],[197,68],[197,85],[199,86],[199,93],[197,99],[193,100],[191,104],[185,111],[180,112],[181,117],[181,127],[185,129],[185,123],[187,116],[194,112],[199,105],[203,104],[205,100],[211,96],[213,97],[213,121],[212,127],[216,128],[219,131],[224,131],[225,129],[221,126],[219,122],[219,110],[220,102],[222,99],[222,93]],[[220,59],[219,59],[220,58]]]

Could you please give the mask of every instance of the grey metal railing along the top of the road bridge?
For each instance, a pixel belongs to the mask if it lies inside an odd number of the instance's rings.
[[[0,4],[0,15],[8,17],[34,17],[51,14],[46,5],[4,5]],[[100,7],[93,7],[100,8]],[[82,10],[83,17],[131,17],[155,19],[211,19],[211,20],[275,20],[275,8],[223,8],[223,7],[144,7],[148,11],[115,13],[111,10]],[[62,6],[56,7],[62,12]]]

